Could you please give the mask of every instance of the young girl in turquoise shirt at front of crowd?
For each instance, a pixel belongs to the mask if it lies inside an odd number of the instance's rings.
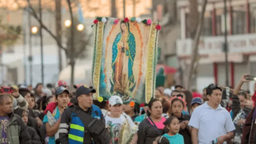
[[[169,130],[167,134],[163,135],[163,137],[166,137],[169,140],[169,143],[184,144],[184,138],[179,134],[180,123],[177,117],[169,117],[163,124],[165,124]]]

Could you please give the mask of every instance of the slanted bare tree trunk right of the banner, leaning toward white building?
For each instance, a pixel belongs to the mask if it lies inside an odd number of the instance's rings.
[[[194,1],[194,0],[190,0],[190,1]],[[192,45],[191,62],[190,62],[189,68],[188,68],[188,77],[185,81],[185,88],[187,90],[189,90],[189,88],[190,88],[191,77],[192,77],[193,72],[195,71],[194,70],[195,66],[196,66],[195,63],[196,63],[196,61],[199,60],[198,59],[198,45],[199,45],[200,35],[201,35],[202,27],[203,27],[203,19],[204,19],[206,5],[207,5],[207,0],[204,0],[203,5],[202,5],[202,12],[200,14],[200,19],[198,22],[198,27],[196,30],[196,35],[194,38],[194,43]]]

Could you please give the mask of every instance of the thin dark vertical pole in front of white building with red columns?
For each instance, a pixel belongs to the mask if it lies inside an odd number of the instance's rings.
[[[226,27],[226,0],[224,0],[224,52],[225,52],[225,68],[226,68],[226,86],[228,85],[228,31]]]

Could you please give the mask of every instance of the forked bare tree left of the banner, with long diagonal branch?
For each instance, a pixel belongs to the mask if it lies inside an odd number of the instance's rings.
[[[75,48],[75,41],[74,41],[74,39],[75,39],[75,22],[74,22],[74,16],[73,16],[73,11],[72,11],[72,1],[66,0],[68,3],[68,8],[69,8],[70,16],[71,16],[71,21],[72,21],[71,27],[70,27],[70,41],[68,42],[70,44],[67,47],[64,47],[62,45],[60,39],[56,35],[54,35],[54,33],[51,30],[49,30],[49,28],[47,26],[45,26],[45,24],[43,24],[43,22],[40,22],[40,19],[37,16],[37,12],[32,7],[30,0],[27,0],[27,1],[28,1],[28,7],[30,7],[30,9],[31,9],[30,12],[31,12],[32,16],[39,22],[41,27],[43,29],[45,29],[45,31],[47,31],[53,37],[53,39],[56,41],[59,48],[62,48],[62,50],[64,50],[66,57],[69,60],[68,64],[71,66],[71,69],[72,69],[71,70],[71,85],[74,85],[75,60],[85,50],[87,45],[89,45],[89,39],[91,36],[88,36],[87,39],[83,41],[83,44],[79,45],[79,48]]]

